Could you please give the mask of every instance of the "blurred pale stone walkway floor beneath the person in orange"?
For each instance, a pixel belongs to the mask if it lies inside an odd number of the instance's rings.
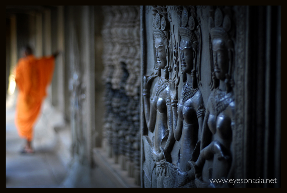
[[[49,106],[44,103],[35,126],[32,145],[36,153],[24,155],[20,149],[25,141],[18,136],[14,123],[16,95],[6,100],[6,187],[64,187],[62,182],[67,172],[57,155],[59,144],[55,131],[47,120]]]

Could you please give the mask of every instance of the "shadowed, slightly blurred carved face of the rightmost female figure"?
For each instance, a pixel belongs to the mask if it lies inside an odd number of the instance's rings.
[[[220,38],[212,40],[214,71],[217,79],[225,80],[228,72],[228,50]]]

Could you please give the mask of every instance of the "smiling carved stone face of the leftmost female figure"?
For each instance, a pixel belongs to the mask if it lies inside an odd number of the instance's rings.
[[[154,46],[156,47],[156,62],[158,63],[158,67],[164,69],[166,66],[166,50],[162,38],[156,38]]]

